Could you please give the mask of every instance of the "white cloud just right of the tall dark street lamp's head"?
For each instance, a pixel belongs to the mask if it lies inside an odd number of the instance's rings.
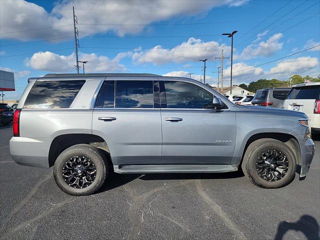
[[[283,42],[279,42],[282,33],[270,36],[266,41],[252,43],[245,47],[240,55],[235,55],[235,59],[250,59],[259,56],[270,56],[282,48]],[[258,36],[260,37],[260,36]]]

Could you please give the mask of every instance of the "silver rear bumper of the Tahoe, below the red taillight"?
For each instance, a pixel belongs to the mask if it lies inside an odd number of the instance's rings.
[[[13,160],[25,166],[49,167],[48,155],[53,138],[12,137],[10,155]]]

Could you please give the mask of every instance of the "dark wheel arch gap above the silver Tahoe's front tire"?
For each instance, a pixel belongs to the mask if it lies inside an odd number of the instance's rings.
[[[242,150],[242,157],[241,157],[241,162],[240,165],[242,164],[243,156],[245,154],[245,151],[247,147],[255,140],[261,139],[261,138],[272,138],[275,140],[282,141],[285,143],[290,149],[293,151],[294,156],[296,157],[296,164],[301,165],[301,150],[300,150],[300,145],[298,143],[298,140],[291,134],[289,133],[281,133],[281,132],[259,132],[251,135],[246,143],[245,146]]]

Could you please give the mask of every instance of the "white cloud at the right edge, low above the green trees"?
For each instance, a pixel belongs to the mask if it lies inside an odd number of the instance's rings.
[[[270,73],[286,73],[290,72],[294,74],[304,73],[310,69],[318,66],[319,61],[317,57],[301,56],[295,59],[287,59],[276,64],[276,66],[270,69]]]

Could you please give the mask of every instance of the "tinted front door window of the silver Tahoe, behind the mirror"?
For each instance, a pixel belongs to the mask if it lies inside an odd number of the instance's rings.
[[[205,108],[212,103],[213,95],[192,83],[165,81],[168,108]]]

